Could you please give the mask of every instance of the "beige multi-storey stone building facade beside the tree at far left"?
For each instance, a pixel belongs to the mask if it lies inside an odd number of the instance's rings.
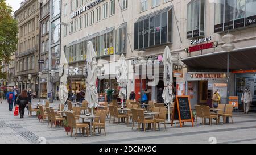
[[[36,90],[39,58],[39,3],[27,0],[14,12],[18,22],[18,51],[15,53],[15,85]],[[31,79],[28,75],[31,75]],[[19,78],[20,77],[20,78]]]

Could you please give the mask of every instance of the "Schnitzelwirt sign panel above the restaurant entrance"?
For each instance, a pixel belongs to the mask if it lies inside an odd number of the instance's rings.
[[[207,73],[207,72],[187,73],[187,81],[210,81],[210,80],[222,80],[225,78],[226,78],[226,73]]]

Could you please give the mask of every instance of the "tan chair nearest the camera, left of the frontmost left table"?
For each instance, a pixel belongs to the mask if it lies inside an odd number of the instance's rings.
[[[76,123],[75,115],[72,112],[65,112],[68,120],[68,126],[71,127],[71,136],[73,135],[73,128],[76,129],[75,136],[77,136],[77,128],[82,128],[82,133],[86,128],[87,136],[89,136],[89,125],[87,123]],[[68,135],[68,132],[67,132]]]

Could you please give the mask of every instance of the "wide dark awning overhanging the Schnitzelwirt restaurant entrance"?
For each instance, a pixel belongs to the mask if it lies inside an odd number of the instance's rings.
[[[256,69],[256,46],[238,48],[229,53],[229,69]],[[215,52],[205,55],[193,56],[181,60],[189,69],[205,70],[226,70],[227,53]]]

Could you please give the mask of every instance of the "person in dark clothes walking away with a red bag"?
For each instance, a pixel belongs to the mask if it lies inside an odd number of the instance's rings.
[[[26,90],[22,90],[22,93],[18,96],[16,104],[19,105],[20,118],[24,118],[25,107],[27,106],[28,102],[30,102],[30,98],[28,97]]]

